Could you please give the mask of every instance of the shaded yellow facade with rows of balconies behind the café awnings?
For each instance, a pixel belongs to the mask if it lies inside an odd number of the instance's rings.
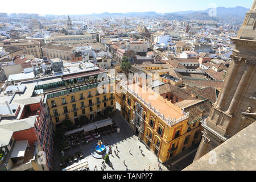
[[[108,106],[111,106],[114,111],[114,86],[114,81],[102,86],[103,93],[98,91],[98,84],[94,83],[75,87],[72,92],[71,89],[63,89],[48,94],[47,105],[54,129],[65,119],[69,119],[77,125],[82,115],[93,121],[97,116],[102,115]]]

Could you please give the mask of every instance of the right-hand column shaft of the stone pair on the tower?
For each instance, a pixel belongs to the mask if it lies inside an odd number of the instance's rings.
[[[247,61],[247,60],[246,60]],[[237,102],[240,101],[240,97],[243,93],[243,90],[246,88],[247,80],[250,77],[251,71],[254,69],[253,65],[250,65],[249,67],[246,67],[245,72],[243,73],[243,76],[237,86],[237,90],[234,94],[234,97],[232,98],[232,101],[229,105],[229,109],[226,111],[226,113],[233,115],[234,111],[237,107]]]

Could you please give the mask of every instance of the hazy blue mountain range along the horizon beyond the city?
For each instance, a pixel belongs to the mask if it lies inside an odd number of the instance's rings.
[[[130,12],[130,13],[100,13],[100,14],[85,14],[85,15],[72,15],[72,16],[85,16],[85,17],[99,17],[99,18],[107,18],[107,17],[138,17],[138,18],[164,18],[167,20],[229,20],[242,22],[245,18],[245,14],[249,9],[241,6],[237,7],[217,7],[216,11],[212,11],[216,13],[217,16],[210,16],[208,13],[211,9],[203,10],[203,11],[177,11],[174,13],[156,13],[155,11],[148,12]],[[38,14],[6,14],[0,13],[0,18],[20,18],[20,17],[28,16],[38,18]],[[47,18],[58,18],[63,17],[64,15],[46,15]]]

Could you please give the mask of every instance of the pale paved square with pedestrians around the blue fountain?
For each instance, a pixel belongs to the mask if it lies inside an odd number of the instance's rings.
[[[138,137],[133,134],[128,123],[123,120],[119,111],[115,111],[113,120],[120,128],[120,133],[102,136],[103,140],[110,143],[113,151],[113,154],[109,155],[113,168],[106,165],[105,171],[126,171],[127,169],[130,169],[131,171],[143,171],[145,169],[148,171],[149,166],[150,170],[159,170],[158,159],[154,152],[148,150],[143,143],[139,142]],[[92,147],[93,143],[96,142],[97,140],[94,139],[89,144],[81,144],[79,147],[71,148],[65,152],[65,155],[75,155],[77,151],[81,151],[85,156],[85,159],[88,161],[89,169],[92,171],[94,166],[97,166],[97,169],[100,170],[103,159],[95,159],[92,155],[90,155],[90,148]],[[115,146],[118,147],[119,157],[114,154],[114,151],[117,151]],[[139,146],[141,146],[142,153]],[[131,154],[129,150],[131,150]],[[60,154],[57,150],[55,150],[54,157],[53,168],[55,170],[61,170],[59,162]],[[127,169],[123,164],[123,160],[125,160]],[[163,166],[163,164],[160,164],[160,167],[164,171],[167,171],[167,168]]]

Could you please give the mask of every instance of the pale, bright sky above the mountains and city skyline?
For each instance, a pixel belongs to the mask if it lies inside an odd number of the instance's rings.
[[[36,13],[40,15],[77,15],[92,13],[127,13],[155,11],[206,10],[209,7],[250,8],[253,0],[13,0],[11,5],[0,6],[0,13]]]

